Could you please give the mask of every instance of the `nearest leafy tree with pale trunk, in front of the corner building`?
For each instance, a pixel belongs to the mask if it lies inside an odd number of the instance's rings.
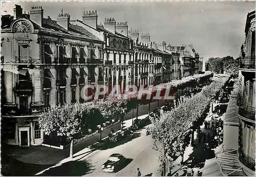
[[[85,134],[84,127],[86,127],[90,112],[90,107],[80,103],[58,105],[46,109],[39,115],[38,122],[46,135],[56,131],[57,136],[66,136],[71,140],[70,157],[73,158],[74,138],[79,134]]]

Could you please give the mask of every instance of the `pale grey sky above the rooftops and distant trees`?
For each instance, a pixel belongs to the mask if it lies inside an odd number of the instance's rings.
[[[239,57],[246,15],[255,8],[255,2],[2,2],[2,15],[13,15],[15,4],[26,13],[31,6],[42,6],[44,17],[55,20],[61,8],[71,19],[82,19],[83,11],[97,10],[98,24],[105,17],[127,21],[129,29],[150,33],[152,41],[193,44],[205,59]]]

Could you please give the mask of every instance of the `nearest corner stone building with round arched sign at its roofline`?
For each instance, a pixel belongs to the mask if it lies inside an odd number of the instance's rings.
[[[8,144],[41,144],[37,115],[44,107],[83,102],[82,86],[104,79],[104,41],[70,24],[67,13],[57,20],[43,15],[42,7],[32,7],[29,15],[16,5],[13,17],[2,16],[1,117]]]

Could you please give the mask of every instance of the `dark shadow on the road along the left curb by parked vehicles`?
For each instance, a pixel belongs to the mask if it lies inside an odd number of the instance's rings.
[[[134,138],[126,137],[125,139],[119,140],[117,142],[110,142],[108,139],[106,139],[104,142],[100,143],[99,145],[95,146],[95,148],[98,148],[100,150],[106,150],[106,149],[111,149],[120,145],[123,145],[135,138],[140,137],[140,132],[135,132],[134,133]]]

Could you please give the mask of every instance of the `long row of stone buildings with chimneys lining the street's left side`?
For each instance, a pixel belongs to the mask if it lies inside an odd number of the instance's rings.
[[[24,14],[16,5],[14,16],[1,18],[2,141],[7,144],[46,142],[38,114],[56,104],[84,102],[84,85],[119,85],[123,92],[127,84],[159,84],[198,72],[192,46],[173,50],[113,17],[99,24],[97,11],[84,12],[81,20],[62,10],[56,20],[43,16],[42,7]]]

